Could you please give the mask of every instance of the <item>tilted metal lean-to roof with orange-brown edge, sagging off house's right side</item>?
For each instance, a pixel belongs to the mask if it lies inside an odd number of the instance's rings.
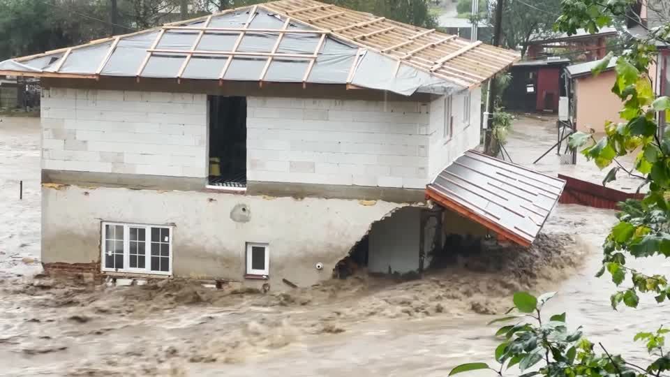
[[[467,151],[440,172],[426,194],[503,239],[530,246],[563,186],[563,179]]]

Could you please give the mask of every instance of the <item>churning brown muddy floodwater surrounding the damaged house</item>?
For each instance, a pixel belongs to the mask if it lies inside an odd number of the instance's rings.
[[[551,121],[525,117],[507,149],[530,165],[554,142]],[[461,362],[491,362],[486,323],[515,290],[557,290],[546,311],[566,311],[592,341],[635,360],[646,353],[633,335],[670,318],[653,297],[611,309],[613,284],[593,275],[614,213],[577,205],[558,205],[530,251],[463,256],[420,281],[358,276],[265,295],[180,281],[52,281],[39,275],[39,144],[37,119],[0,122],[0,376],[446,376]],[[549,154],[535,168],[604,174],[579,163]],[[633,263],[670,272],[663,259]]]

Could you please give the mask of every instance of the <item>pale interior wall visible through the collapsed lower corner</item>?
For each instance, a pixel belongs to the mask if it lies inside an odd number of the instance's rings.
[[[368,271],[392,273],[419,269],[422,208],[406,207],[374,223],[368,237]]]

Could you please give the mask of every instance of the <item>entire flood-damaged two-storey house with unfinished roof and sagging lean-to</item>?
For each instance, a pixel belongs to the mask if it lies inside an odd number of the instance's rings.
[[[371,272],[421,269],[440,206],[530,244],[561,182],[468,151],[482,82],[516,59],[282,0],[10,59],[0,74],[43,85],[47,272],[281,289],[330,279],[363,244]]]

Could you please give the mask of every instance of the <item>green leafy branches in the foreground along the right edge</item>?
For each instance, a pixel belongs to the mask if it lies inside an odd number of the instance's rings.
[[[563,0],[562,14],[556,28],[568,34],[577,29],[597,32],[611,26],[622,17],[630,16],[632,0]],[[616,179],[621,170],[641,177],[648,185],[648,193],[642,200],[627,200],[620,204],[618,222],[613,226],[603,245],[602,268],[597,276],[609,275],[620,287],[610,297],[611,306],[636,308],[640,297],[653,295],[658,304],[670,300],[670,285],[667,276],[653,271],[640,271],[627,261],[631,258],[662,256],[670,258],[670,134],[662,135],[657,119],[662,112],[670,114],[670,98],[657,97],[650,79],[650,66],[657,59],[656,43],[670,43],[670,22],[660,27],[648,28],[648,37],[634,40],[625,53],[616,61],[616,80],[612,92],[620,98],[623,108],[620,118],[624,121],[606,121],[606,135],[596,140],[594,135],[575,133],[569,144],[581,149],[581,153],[604,169],[616,164],[607,173],[603,184]],[[611,56],[593,69],[600,73]],[[625,168],[616,158],[634,154],[634,166]],[[496,348],[496,368],[478,364],[477,369],[488,368],[502,376],[505,368],[518,366],[523,376],[667,376],[670,371],[670,353],[664,348],[665,337],[670,332],[664,324],[658,324],[648,332],[636,334],[633,341],[641,341],[649,353],[646,366],[632,364],[622,355],[612,355],[605,346],[586,339],[580,328],[570,329],[565,313],[553,315],[546,320],[542,306],[551,295],[534,297],[528,293],[514,295],[517,314],[493,322],[515,320],[514,325],[501,327],[496,336],[502,343]],[[528,321],[530,319],[530,322]],[[467,364],[466,364],[467,365]],[[472,370],[474,367],[459,366],[452,374]]]

